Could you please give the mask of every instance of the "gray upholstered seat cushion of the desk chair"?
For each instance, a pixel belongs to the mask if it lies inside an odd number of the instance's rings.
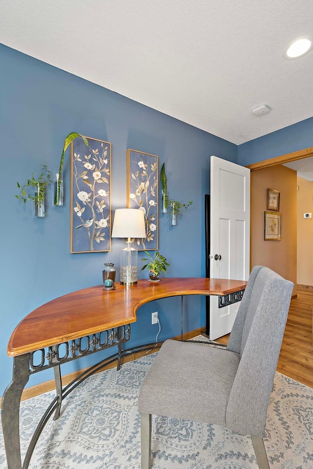
[[[239,354],[205,343],[165,341],[141,386],[139,410],[225,425],[239,362]]]

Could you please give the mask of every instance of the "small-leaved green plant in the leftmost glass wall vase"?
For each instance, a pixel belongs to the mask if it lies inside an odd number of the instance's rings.
[[[36,172],[32,173],[32,178],[27,179],[27,183],[22,185],[17,182],[20,193],[15,197],[22,199],[24,204],[27,200],[32,200],[35,205],[43,205],[45,203],[46,185],[51,181],[51,171],[47,170],[46,165],[42,166],[42,172],[37,176]],[[37,177],[36,177],[37,176]],[[35,191],[33,190],[35,188]]]

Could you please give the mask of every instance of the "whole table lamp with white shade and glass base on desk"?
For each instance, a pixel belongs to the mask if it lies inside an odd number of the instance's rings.
[[[134,248],[134,238],[145,238],[146,226],[143,210],[116,209],[112,228],[112,238],[127,238],[127,246],[121,251],[121,285],[136,285],[138,271],[138,251]]]

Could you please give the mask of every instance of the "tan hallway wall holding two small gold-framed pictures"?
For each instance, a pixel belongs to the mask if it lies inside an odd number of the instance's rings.
[[[265,265],[294,284],[297,283],[296,186],[296,171],[285,166],[251,171],[251,268],[254,265]],[[281,241],[264,241],[268,188],[280,192]]]

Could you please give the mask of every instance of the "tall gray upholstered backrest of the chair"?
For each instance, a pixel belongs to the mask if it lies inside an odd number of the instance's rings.
[[[241,356],[226,409],[226,425],[233,431],[265,436],[292,289],[291,281],[268,267],[253,267],[227,345]]]

